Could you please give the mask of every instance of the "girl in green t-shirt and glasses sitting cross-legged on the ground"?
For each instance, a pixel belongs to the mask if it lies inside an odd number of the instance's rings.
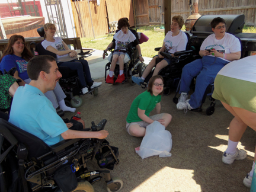
[[[126,118],[126,130],[135,137],[143,137],[146,133],[146,126],[159,121],[165,127],[171,122],[172,116],[168,113],[161,113],[161,95],[164,91],[164,80],[162,76],[155,75],[149,80],[147,91],[138,95],[133,101]],[[156,109],[156,115],[149,113]]]

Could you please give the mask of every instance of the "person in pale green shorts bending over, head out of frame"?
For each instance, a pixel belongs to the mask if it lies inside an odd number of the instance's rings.
[[[236,60],[223,67],[215,78],[215,90],[212,97],[220,100],[223,106],[233,116],[229,124],[228,148],[223,153],[222,161],[232,164],[234,160],[247,157],[247,152],[237,148],[239,140],[247,126],[256,131],[256,56],[248,56]],[[244,184],[251,187],[252,175],[256,161],[251,172],[244,178]]]

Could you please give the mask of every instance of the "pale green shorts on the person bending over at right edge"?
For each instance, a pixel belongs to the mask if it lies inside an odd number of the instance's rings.
[[[231,107],[256,113],[256,83],[217,75],[212,97]]]

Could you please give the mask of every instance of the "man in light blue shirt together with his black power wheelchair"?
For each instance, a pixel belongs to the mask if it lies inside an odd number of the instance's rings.
[[[121,180],[112,180],[109,171],[88,171],[86,165],[94,158],[100,168],[119,163],[118,149],[105,140],[107,121],[92,122],[90,131],[68,129],[43,95],[61,77],[54,57],[34,57],[27,72],[31,82],[15,92],[9,123],[0,120],[1,191],[93,191],[91,184],[100,180],[108,191],[119,191]]]

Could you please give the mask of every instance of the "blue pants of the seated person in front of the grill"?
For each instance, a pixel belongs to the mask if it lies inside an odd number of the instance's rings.
[[[186,92],[188,94],[191,81],[197,76],[196,89],[190,96],[190,101],[188,102],[191,107],[200,107],[207,86],[214,82],[217,73],[227,63],[229,62],[219,59],[218,57],[203,56],[202,59],[194,60],[184,66],[181,74],[180,94],[181,92]]]

